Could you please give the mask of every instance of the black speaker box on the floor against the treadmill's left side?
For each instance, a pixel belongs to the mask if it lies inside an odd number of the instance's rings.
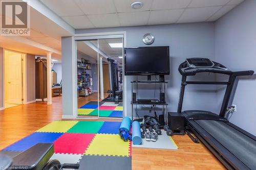
[[[168,126],[174,135],[184,135],[185,117],[177,112],[168,112]]]

